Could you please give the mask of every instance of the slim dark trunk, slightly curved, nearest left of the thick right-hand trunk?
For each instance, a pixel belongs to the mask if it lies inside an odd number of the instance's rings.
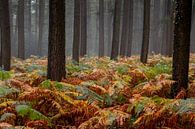
[[[147,63],[149,38],[150,38],[150,0],[144,0],[143,41],[142,41],[142,48],[141,48],[142,63]]]

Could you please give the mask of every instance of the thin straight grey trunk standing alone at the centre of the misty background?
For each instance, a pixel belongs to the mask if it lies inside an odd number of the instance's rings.
[[[99,0],[99,57],[104,56],[104,0]]]

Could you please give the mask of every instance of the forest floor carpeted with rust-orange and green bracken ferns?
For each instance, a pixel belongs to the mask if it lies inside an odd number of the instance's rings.
[[[67,78],[46,80],[46,58],[12,59],[0,71],[0,128],[195,129],[195,55],[189,88],[170,98],[171,58],[67,60]],[[183,96],[187,94],[187,99]]]

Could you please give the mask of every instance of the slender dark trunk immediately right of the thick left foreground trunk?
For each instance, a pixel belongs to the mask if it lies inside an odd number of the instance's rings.
[[[80,44],[80,0],[75,0],[74,5],[74,37],[72,59],[79,63],[79,44]]]

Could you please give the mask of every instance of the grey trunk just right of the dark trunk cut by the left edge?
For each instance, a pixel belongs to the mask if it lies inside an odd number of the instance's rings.
[[[25,58],[24,47],[24,0],[18,0],[18,57]]]

